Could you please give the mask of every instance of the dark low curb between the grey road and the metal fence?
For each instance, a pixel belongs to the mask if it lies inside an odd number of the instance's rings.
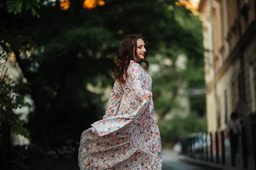
[[[227,170],[227,167],[212,162],[190,159],[190,158],[180,158],[180,161],[183,161],[187,164],[191,164],[197,167],[204,168],[206,170]]]

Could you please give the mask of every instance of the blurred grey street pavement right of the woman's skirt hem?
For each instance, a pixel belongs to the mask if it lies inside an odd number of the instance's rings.
[[[162,170],[203,170],[198,167],[180,161],[179,156],[173,150],[163,149],[163,169]]]

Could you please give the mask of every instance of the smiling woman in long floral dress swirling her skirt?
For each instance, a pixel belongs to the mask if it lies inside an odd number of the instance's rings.
[[[145,62],[145,67],[141,65]],[[152,79],[142,34],[128,35],[115,57],[111,96],[103,119],[81,135],[81,170],[161,170],[162,148],[153,119]],[[123,93],[127,94],[122,107]]]

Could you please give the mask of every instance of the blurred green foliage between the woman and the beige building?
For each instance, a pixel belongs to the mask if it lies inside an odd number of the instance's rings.
[[[160,117],[158,125],[163,144],[177,142],[189,133],[206,132],[207,121],[202,119],[205,114],[205,96],[190,97],[186,92],[190,88],[204,88],[204,48],[202,23],[198,16],[189,15],[187,11],[177,8],[175,20],[183,29],[181,38],[185,43],[175,43],[158,51],[160,57],[155,57],[154,64],[159,65],[158,72],[153,74],[152,91],[154,108]],[[177,31],[178,32],[178,31]],[[189,36],[186,34],[189,33]],[[187,57],[186,68],[180,69],[177,61],[181,55]],[[171,64],[166,64],[166,60]],[[183,92],[182,92],[183,91]],[[183,113],[180,105],[181,97],[189,98],[190,111],[188,117],[177,116]],[[166,120],[168,113],[175,113],[172,119]]]

